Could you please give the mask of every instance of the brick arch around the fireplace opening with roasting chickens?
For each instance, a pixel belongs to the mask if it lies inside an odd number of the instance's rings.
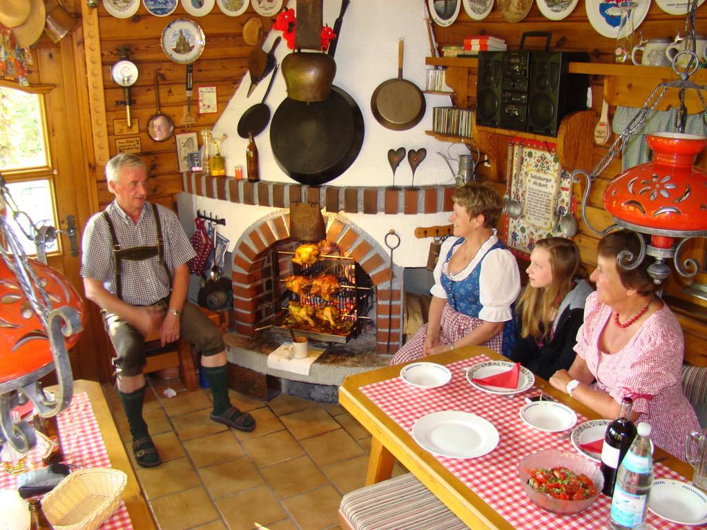
[[[271,277],[263,269],[264,257],[270,247],[290,237],[289,217],[288,210],[264,216],[250,225],[235,244],[234,324],[240,334],[256,333],[258,307],[264,302],[262,293],[272,288],[268,285]],[[402,268],[393,264],[391,270],[390,250],[346,216],[326,214],[325,220],[327,240],[339,245],[341,254],[355,259],[375,286],[376,353],[395,353],[402,339]]]

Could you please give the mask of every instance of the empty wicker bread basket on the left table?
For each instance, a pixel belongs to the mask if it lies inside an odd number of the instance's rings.
[[[78,469],[42,501],[55,530],[95,530],[120,502],[127,475],[110,468]]]

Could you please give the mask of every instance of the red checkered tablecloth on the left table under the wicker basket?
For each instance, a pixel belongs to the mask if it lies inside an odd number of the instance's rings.
[[[93,416],[93,408],[86,392],[75,394],[69,408],[57,416],[59,436],[62,438],[64,464],[77,468],[111,467],[105,450],[103,437],[100,435],[98,422]],[[42,459],[33,449],[28,454],[30,468],[42,467]],[[16,489],[17,475],[6,473],[0,469],[0,489]],[[118,510],[108,519],[102,530],[132,530],[132,523],[124,502],[120,502]]]

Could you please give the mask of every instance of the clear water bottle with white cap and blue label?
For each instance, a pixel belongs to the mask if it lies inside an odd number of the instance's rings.
[[[609,515],[610,529],[631,530],[636,524],[643,523],[651,485],[653,444],[650,443],[650,425],[639,423],[638,436],[619,466]]]

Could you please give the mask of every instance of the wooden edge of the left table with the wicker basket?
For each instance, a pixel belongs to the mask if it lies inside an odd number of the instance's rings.
[[[52,387],[49,387],[48,390],[52,390]],[[85,379],[74,381],[74,394],[80,394],[81,392],[88,394],[111,466],[114,469],[119,469],[128,477],[127,485],[123,491],[123,501],[130,515],[133,528],[135,530],[155,530],[155,523],[128,456],[125,453],[125,446],[115,428],[115,422],[107,401],[105,401],[100,383],[86,381]]]

